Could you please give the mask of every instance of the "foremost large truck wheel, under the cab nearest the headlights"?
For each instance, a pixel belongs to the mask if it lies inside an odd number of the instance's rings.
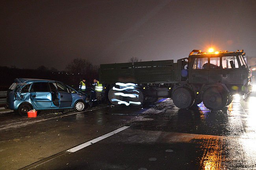
[[[227,104],[228,96],[216,87],[210,87],[203,94],[203,102],[207,109],[221,110]]]

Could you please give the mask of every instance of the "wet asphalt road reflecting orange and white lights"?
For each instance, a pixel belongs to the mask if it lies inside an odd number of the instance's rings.
[[[210,112],[161,99],[143,108],[5,114],[0,169],[256,170],[255,103],[255,95],[240,96]]]

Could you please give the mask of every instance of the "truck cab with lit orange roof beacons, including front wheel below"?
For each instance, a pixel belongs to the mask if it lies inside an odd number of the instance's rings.
[[[250,74],[243,50],[213,53],[193,50],[188,60],[188,82],[195,91],[196,103],[205,100],[204,104],[211,105],[209,108],[218,110],[220,107],[229,105],[234,94],[248,93]],[[213,91],[220,93],[223,100],[217,109],[213,109],[216,99],[213,99],[214,101],[206,99],[206,93],[213,94]]]

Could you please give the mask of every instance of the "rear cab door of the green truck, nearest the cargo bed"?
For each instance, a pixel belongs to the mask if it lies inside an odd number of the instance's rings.
[[[198,57],[190,70],[190,83],[208,83],[208,58]]]

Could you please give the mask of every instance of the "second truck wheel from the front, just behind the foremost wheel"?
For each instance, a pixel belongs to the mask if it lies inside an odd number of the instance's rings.
[[[180,87],[173,92],[173,103],[180,109],[188,109],[193,105],[195,98],[191,90]]]

